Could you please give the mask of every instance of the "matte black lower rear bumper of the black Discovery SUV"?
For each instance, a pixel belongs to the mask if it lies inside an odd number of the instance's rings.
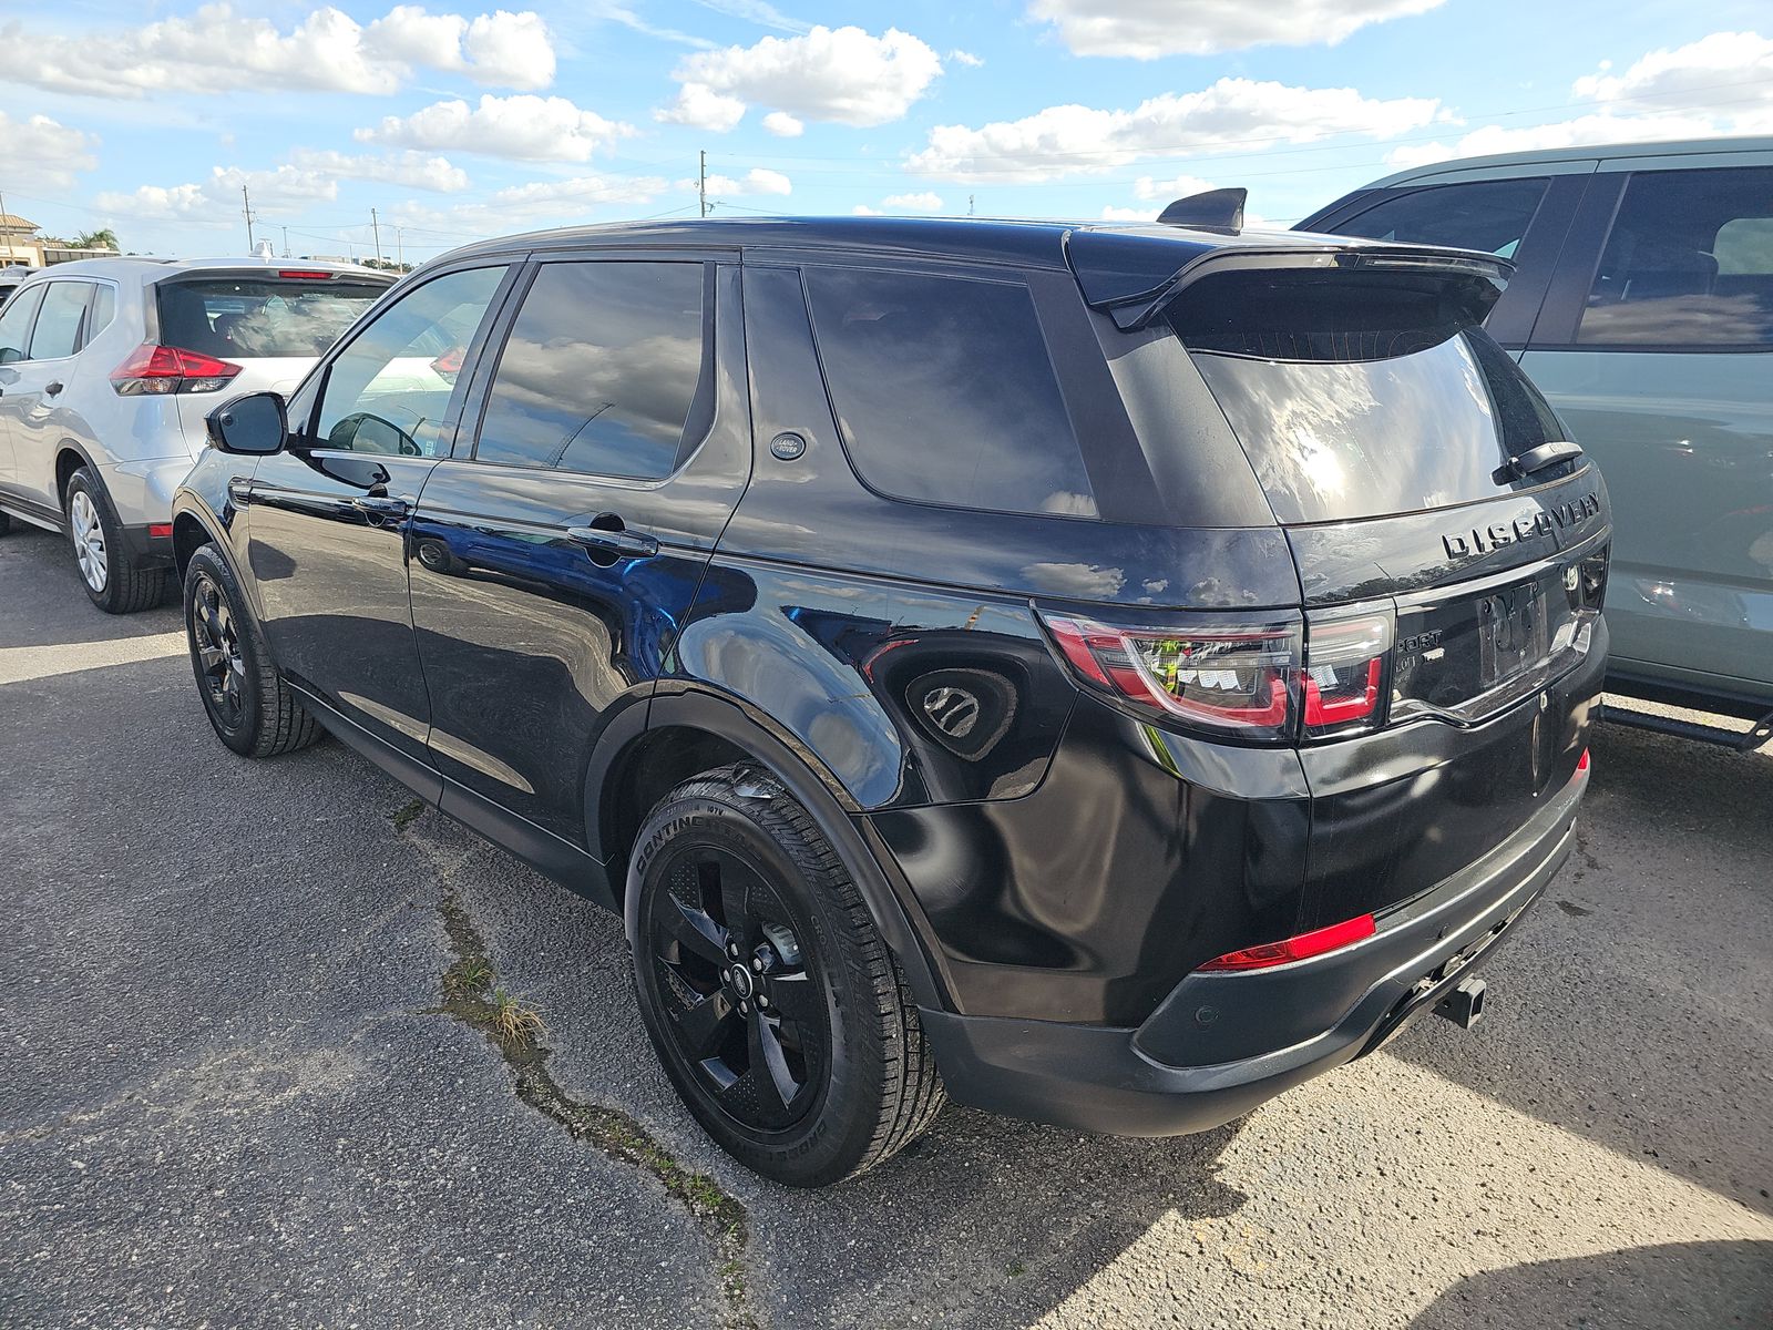
[[[1379,920],[1372,938],[1275,970],[1190,974],[1136,1029],[922,1011],[949,1094],[1126,1137],[1207,1131],[1372,1052],[1488,959],[1569,857],[1578,773],[1489,855]],[[1307,1037],[1291,1037],[1298,1030]],[[1280,1037],[1262,1032],[1278,1030]],[[1241,1046],[1234,1059],[1190,1050]]]

